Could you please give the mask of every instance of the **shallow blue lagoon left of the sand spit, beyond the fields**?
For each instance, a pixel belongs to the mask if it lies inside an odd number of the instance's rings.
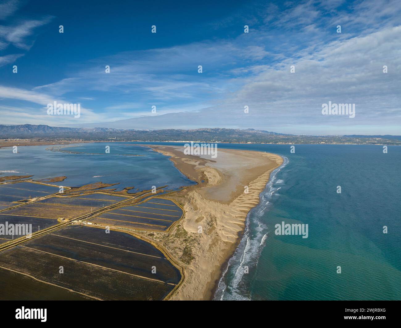
[[[110,146],[110,153],[105,147]],[[130,192],[149,190],[152,186],[178,189],[194,184],[179,172],[168,157],[148,147],[129,142],[89,143],[66,145],[63,151],[51,151],[53,146],[21,146],[18,154],[12,148],[0,148],[0,173],[4,175],[34,175],[45,179],[67,176],[56,185],[82,186],[93,182],[117,183],[135,188]],[[93,155],[92,155],[93,154]],[[140,155],[140,156],[129,156]]]

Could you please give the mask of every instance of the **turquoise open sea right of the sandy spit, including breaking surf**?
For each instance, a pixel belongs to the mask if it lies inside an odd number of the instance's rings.
[[[227,147],[286,162],[249,213],[215,300],[401,299],[401,147]],[[275,235],[282,221],[308,224],[308,238]]]

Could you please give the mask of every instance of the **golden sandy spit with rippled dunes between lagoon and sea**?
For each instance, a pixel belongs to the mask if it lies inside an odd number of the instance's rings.
[[[184,209],[184,218],[166,236],[152,234],[182,265],[184,280],[171,300],[210,300],[225,263],[233,255],[247,213],[259,203],[270,173],[281,156],[220,149],[210,155],[185,155],[182,146],[149,145],[198,182],[168,195]]]

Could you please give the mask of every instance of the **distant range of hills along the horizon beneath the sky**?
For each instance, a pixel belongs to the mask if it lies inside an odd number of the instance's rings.
[[[122,130],[113,128],[63,128],[47,125],[0,125],[2,139],[200,141],[271,144],[401,144],[399,136],[296,136],[267,130],[202,128],[194,130]]]

